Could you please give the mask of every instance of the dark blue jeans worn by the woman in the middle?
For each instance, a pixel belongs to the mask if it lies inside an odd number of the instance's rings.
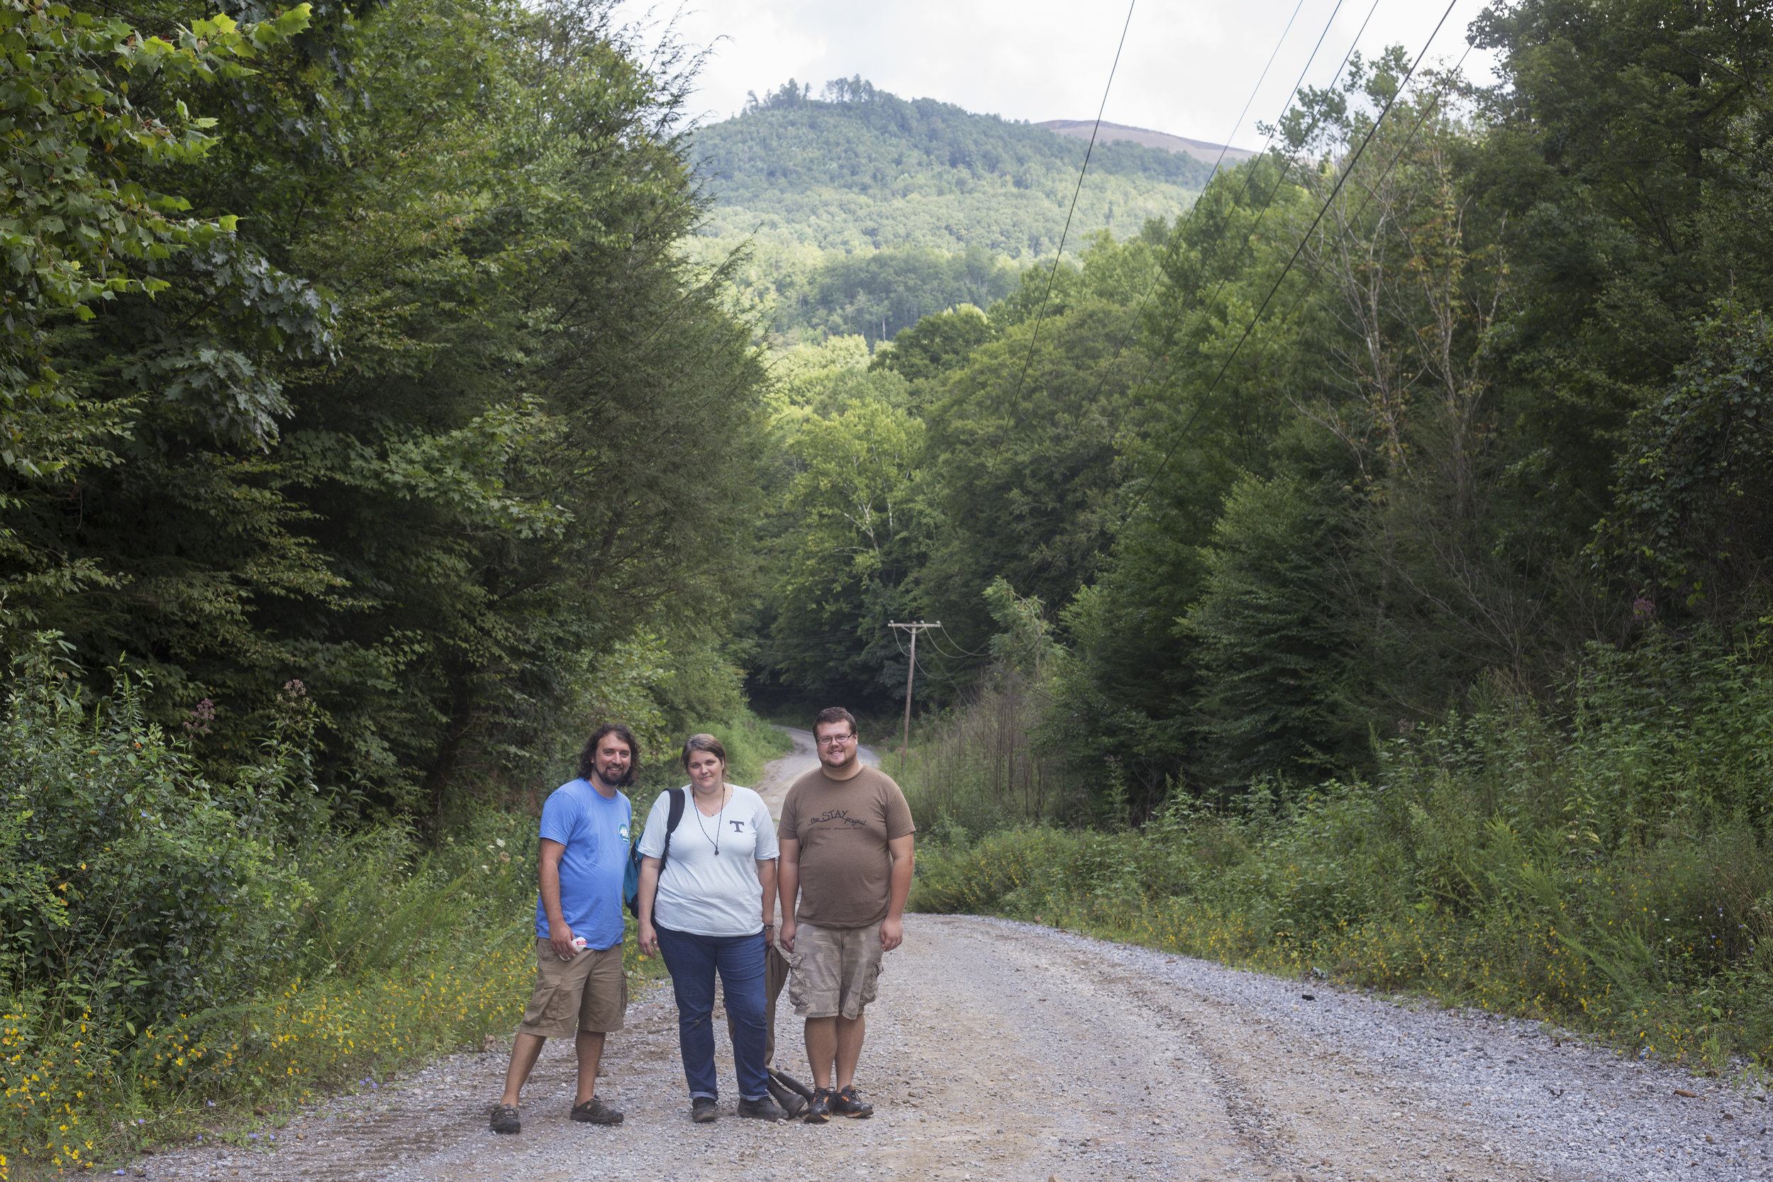
[[[715,1086],[715,973],[727,996],[732,1019],[732,1065],[739,1095],[762,1100],[769,1095],[764,1070],[764,934],[691,936],[656,927],[660,955],[670,969],[677,994],[677,1046],[683,1047],[683,1077],[690,1095],[718,1099]]]

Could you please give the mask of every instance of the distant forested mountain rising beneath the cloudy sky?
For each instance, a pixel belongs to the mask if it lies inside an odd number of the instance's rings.
[[[1058,248],[1087,144],[862,78],[810,90],[789,80],[695,135],[715,206],[693,253],[743,246],[741,291],[787,340],[890,338],[920,315],[1002,299]],[[1071,243],[1174,218],[1209,174],[1211,159],[1105,138]]]

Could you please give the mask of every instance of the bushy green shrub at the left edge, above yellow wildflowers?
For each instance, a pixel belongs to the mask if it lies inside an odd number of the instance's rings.
[[[0,969],[133,1026],[275,980],[310,898],[294,840],[323,813],[296,750],[213,785],[128,675],[87,705],[51,643],[16,663],[0,721],[0,861],[30,868],[0,891]]]

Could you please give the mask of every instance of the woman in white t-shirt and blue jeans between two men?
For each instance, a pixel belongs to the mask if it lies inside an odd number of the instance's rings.
[[[640,835],[640,950],[661,953],[670,969],[690,1118],[707,1124],[718,1116],[713,1015],[715,973],[720,973],[739,1076],[739,1116],[785,1120],[787,1113],[769,1099],[764,1063],[775,824],[761,796],[727,783],[727,750],[715,735],[690,735],[683,766],[690,783],[652,801]],[[676,831],[667,833],[674,792],[688,799]]]

